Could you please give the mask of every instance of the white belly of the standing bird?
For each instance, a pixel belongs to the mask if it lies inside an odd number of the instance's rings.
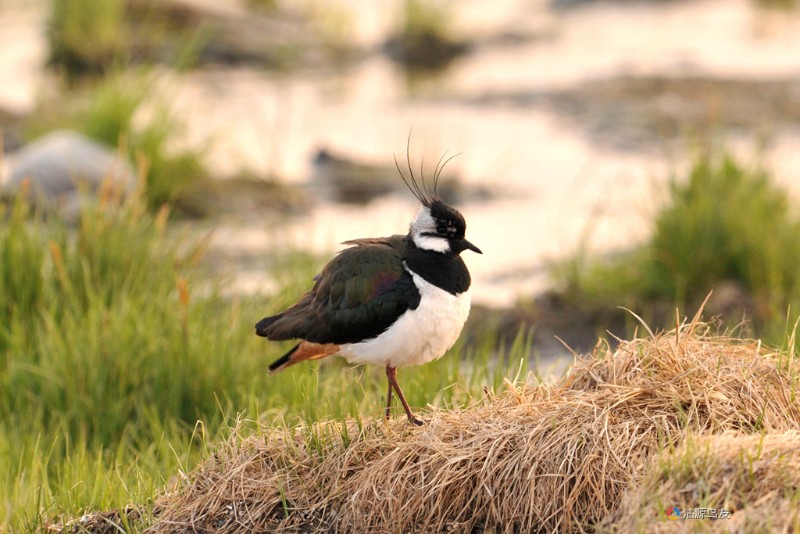
[[[378,337],[341,346],[352,363],[405,367],[420,365],[447,352],[458,339],[469,315],[469,291],[453,295],[409,271],[419,289],[416,310],[406,310]]]

